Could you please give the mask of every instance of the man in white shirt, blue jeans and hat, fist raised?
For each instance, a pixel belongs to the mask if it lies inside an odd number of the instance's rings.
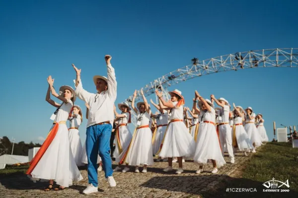
[[[98,192],[97,181],[97,155],[102,159],[103,170],[106,180],[110,187],[115,187],[116,182],[113,178],[112,159],[110,157],[110,138],[114,121],[114,103],[117,97],[117,82],[115,70],[112,67],[111,56],[106,55],[108,77],[94,76],[93,82],[97,93],[91,94],[85,91],[80,81],[81,69],[76,71],[75,94],[79,99],[84,100],[89,108],[89,116],[86,131],[86,152],[88,158],[88,182],[89,186],[83,194]]]

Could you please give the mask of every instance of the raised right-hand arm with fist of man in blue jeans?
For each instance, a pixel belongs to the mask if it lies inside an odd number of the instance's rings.
[[[106,63],[107,63],[107,68],[108,68],[108,95],[116,100],[117,98],[117,81],[116,81],[116,76],[115,76],[115,69],[111,65],[111,59],[112,57],[110,55],[105,55],[104,57]]]

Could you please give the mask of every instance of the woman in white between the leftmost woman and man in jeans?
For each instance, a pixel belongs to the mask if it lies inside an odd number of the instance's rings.
[[[74,105],[73,114],[71,117],[68,118],[70,121],[70,128],[69,128],[69,137],[72,152],[74,155],[74,161],[77,166],[81,166],[81,152],[82,152],[82,143],[79,138],[78,127],[83,121],[82,118],[82,110],[78,105]]]

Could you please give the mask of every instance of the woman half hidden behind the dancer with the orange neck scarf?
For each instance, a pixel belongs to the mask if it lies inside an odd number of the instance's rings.
[[[152,99],[150,99],[150,102],[160,111],[159,114],[151,114],[151,117],[155,118],[156,120],[156,129],[152,136],[152,154],[155,155],[160,148],[162,138],[168,125],[168,113],[167,110],[164,110],[160,107],[161,101],[159,101],[159,105],[155,104]],[[161,157],[158,157],[156,159],[156,161],[161,160],[167,161],[167,158],[161,159]]]

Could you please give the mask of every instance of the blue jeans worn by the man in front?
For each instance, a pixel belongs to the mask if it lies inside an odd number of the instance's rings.
[[[112,159],[110,156],[111,124],[89,126],[86,131],[86,152],[88,158],[88,181],[94,187],[97,181],[97,155],[102,160],[105,177],[113,175]]]

